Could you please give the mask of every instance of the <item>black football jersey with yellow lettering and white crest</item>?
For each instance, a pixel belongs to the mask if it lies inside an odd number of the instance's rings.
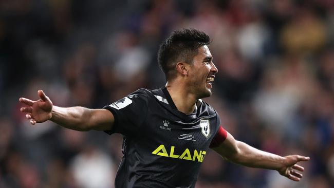
[[[139,89],[104,108],[115,117],[106,132],[124,136],[117,188],[195,186],[220,123],[209,104],[199,100],[195,111],[185,115],[161,88]]]

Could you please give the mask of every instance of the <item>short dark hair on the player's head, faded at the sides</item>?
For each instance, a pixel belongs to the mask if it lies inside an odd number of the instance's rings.
[[[160,45],[158,64],[165,74],[166,80],[176,76],[177,62],[193,63],[194,56],[200,46],[209,45],[210,37],[196,29],[178,29]]]

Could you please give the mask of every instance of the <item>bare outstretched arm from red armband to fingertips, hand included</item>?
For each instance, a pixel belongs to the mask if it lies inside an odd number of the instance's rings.
[[[300,161],[308,161],[309,157],[290,155],[281,157],[275,154],[261,151],[250,145],[237,141],[231,134],[218,147],[212,148],[223,158],[237,164],[249,167],[266,168],[278,171],[293,181],[299,181],[303,175],[304,167],[298,165]]]

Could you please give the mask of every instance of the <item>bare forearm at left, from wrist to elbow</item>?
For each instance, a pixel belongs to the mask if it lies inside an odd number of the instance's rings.
[[[81,106],[75,107],[52,107],[51,121],[65,128],[87,131],[89,130],[88,120],[91,116],[91,109]]]

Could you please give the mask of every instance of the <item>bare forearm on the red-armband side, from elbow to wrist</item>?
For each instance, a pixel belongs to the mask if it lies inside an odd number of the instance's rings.
[[[261,151],[250,145],[237,141],[239,151],[237,155],[230,158],[232,162],[249,167],[266,168],[270,170],[279,170],[282,168],[284,157]]]

